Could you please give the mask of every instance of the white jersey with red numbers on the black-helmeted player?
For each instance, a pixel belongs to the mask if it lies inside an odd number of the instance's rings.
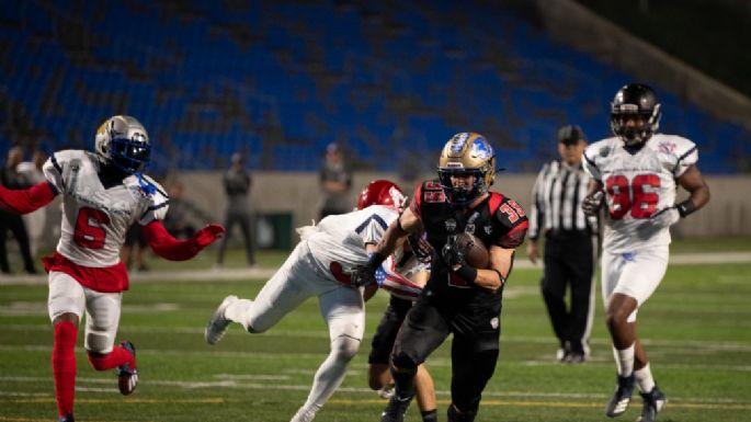
[[[696,145],[674,135],[656,134],[631,153],[617,137],[584,150],[584,169],[606,192],[603,249],[631,252],[670,243],[670,229],[640,237],[637,229],[656,212],[675,203],[675,180],[698,160]]]

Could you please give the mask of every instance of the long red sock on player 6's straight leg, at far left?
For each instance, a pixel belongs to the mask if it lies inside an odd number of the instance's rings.
[[[70,321],[55,324],[53,344],[53,376],[57,413],[62,417],[73,412],[76,397],[76,337],[78,327]]]

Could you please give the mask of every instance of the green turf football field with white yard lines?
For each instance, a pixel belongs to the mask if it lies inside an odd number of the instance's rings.
[[[699,246],[698,248],[696,246]],[[751,241],[676,242],[674,250],[751,250]],[[240,254],[236,254],[239,263]],[[259,261],[275,265],[283,253]],[[210,258],[193,265],[210,265]],[[238,264],[239,265],[239,264]],[[152,267],[167,270],[155,262]],[[515,270],[504,295],[501,356],[477,421],[605,421],[604,404],[615,366],[602,321],[584,365],[554,361],[556,342],[537,283],[539,269]],[[286,422],[304,402],[328,334],[317,301],[308,300],[264,334],[230,328],[217,345],[204,343],[203,328],[230,293],[253,296],[263,281],[141,282],[124,299],[118,340],[138,349],[141,380],[133,396],[117,392],[114,373],[93,370],[77,349],[77,421]],[[599,289],[598,289],[599,294]],[[54,421],[52,331],[45,285],[0,286],[0,422]],[[340,390],[316,421],[377,421],[385,401],[367,389],[369,339],[386,304],[367,304],[367,332]],[[670,402],[660,421],[751,421],[751,262],[672,265],[639,312],[640,335],[652,372]],[[448,343],[428,364],[445,421],[451,365]],[[619,421],[636,420],[635,401]],[[407,421],[420,421],[416,406]]]

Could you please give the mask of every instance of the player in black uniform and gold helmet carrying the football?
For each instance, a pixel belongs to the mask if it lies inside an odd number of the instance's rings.
[[[401,326],[390,356],[395,394],[382,422],[401,422],[414,396],[414,375],[425,358],[454,334],[450,422],[471,422],[498,360],[501,292],[511,273],[514,249],[528,221],[513,199],[489,192],[496,155],[476,133],[454,135],[443,148],[439,179],[420,183],[410,207],[386,230],[367,263],[355,273],[367,283],[399,241],[425,231],[432,246],[431,274]],[[490,254],[487,269],[467,264],[456,236],[478,237]]]

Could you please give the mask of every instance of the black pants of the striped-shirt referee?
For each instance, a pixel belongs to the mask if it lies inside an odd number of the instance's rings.
[[[596,237],[589,231],[548,231],[543,298],[561,349],[589,353],[594,316]],[[567,306],[567,288],[570,294]]]

